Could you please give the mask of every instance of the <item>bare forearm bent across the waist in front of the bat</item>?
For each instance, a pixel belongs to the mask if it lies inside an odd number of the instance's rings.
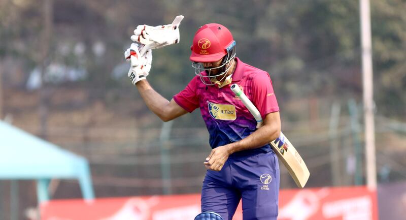
[[[279,112],[269,113],[264,118],[264,125],[241,141],[227,144],[227,151],[231,154],[241,150],[261,147],[279,137],[281,133],[281,119]]]

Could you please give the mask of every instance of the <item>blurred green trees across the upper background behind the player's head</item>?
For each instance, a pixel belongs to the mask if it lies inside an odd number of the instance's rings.
[[[268,71],[284,102],[312,96],[359,98],[358,7],[353,0],[54,0],[48,59],[85,68],[83,86],[97,92],[132,89],[125,68],[117,68],[125,65],[123,51],[132,30],[138,24],[170,23],[182,14],[180,44],[154,51],[149,76],[167,98],[194,76],[188,59],[191,40],[199,26],[211,22],[231,30],[238,56]],[[406,113],[405,10],[402,0],[371,1],[375,100],[380,113],[394,117]],[[42,6],[31,1],[0,1],[0,57],[22,60],[26,75],[39,65],[43,14]],[[103,50],[96,50],[96,44]],[[122,76],[112,77],[114,70]]]

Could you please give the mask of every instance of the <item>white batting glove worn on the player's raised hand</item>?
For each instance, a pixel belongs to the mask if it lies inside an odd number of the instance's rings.
[[[145,46],[139,46],[132,43],[130,48],[124,52],[124,57],[131,63],[128,71],[128,77],[131,79],[132,84],[146,79],[151,70],[152,64],[152,50],[146,50],[144,55],[141,55],[140,50]]]

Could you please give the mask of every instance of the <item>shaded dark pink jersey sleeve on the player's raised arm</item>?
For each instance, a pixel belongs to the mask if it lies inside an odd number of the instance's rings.
[[[189,113],[199,107],[196,94],[196,77],[194,77],[182,91],[174,96],[174,100]]]

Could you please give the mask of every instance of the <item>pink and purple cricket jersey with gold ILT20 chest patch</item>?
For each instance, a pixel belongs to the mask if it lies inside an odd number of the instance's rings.
[[[239,58],[235,58],[235,61],[232,83],[240,86],[258,108],[262,118],[268,113],[279,111],[268,73],[245,64]],[[256,130],[255,118],[234,95],[230,86],[231,84],[221,88],[217,85],[206,86],[199,76],[195,76],[184,90],[174,96],[175,102],[188,112],[200,108],[210,134],[209,142],[212,148],[239,141]],[[268,145],[261,148],[270,150]]]

